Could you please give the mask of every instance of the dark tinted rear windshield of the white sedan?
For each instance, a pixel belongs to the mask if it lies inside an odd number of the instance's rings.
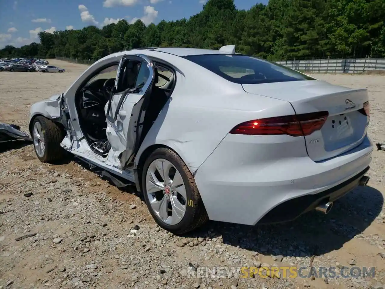
[[[208,54],[184,58],[239,84],[315,80],[293,69],[249,55]]]

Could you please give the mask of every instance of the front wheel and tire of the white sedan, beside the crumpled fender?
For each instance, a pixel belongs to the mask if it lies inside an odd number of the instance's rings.
[[[64,158],[65,150],[60,146],[64,132],[53,121],[37,116],[32,126],[33,148],[42,163],[51,163]]]

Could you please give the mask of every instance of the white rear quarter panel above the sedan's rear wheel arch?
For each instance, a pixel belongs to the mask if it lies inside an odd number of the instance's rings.
[[[157,144],[176,151],[194,175],[237,124],[294,113],[289,102],[249,94],[203,67],[192,68],[176,72],[174,91],[144,138],[136,164]]]

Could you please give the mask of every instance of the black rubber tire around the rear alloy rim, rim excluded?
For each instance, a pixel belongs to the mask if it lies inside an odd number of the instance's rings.
[[[149,198],[148,198],[148,195],[147,195],[147,190],[146,190],[146,175],[147,175],[147,170],[149,168],[149,165],[156,159],[159,159],[159,158],[162,158],[162,159],[165,159],[169,162],[172,163],[172,165],[175,166],[175,168],[179,171],[179,173],[181,174],[182,176],[182,180],[183,180],[183,183],[184,183],[184,187],[186,188],[186,196],[187,196],[187,200],[186,200],[186,212],[184,213],[184,216],[181,220],[181,222],[177,223],[176,225],[168,225],[166,223],[164,223],[157,215],[156,213],[154,212],[154,210],[152,209],[151,207],[151,204],[149,202]],[[193,207],[189,207],[187,205],[187,202],[189,199],[191,200],[194,200],[194,195],[191,191],[191,187],[190,187],[190,183],[189,183],[189,178],[186,174],[186,172],[184,171],[183,169],[183,164],[181,163],[180,160],[178,160],[174,155],[172,155],[169,151],[167,151],[167,149],[157,149],[155,150],[146,160],[146,162],[144,163],[144,166],[143,166],[143,170],[142,170],[142,192],[143,192],[143,195],[144,195],[144,200],[146,202],[146,205],[147,205],[147,208],[148,210],[150,211],[151,213],[151,216],[154,218],[154,220],[157,222],[157,224],[159,226],[161,226],[163,229],[166,229],[170,232],[173,232],[173,231],[179,231],[179,230],[183,230],[187,227],[190,226],[191,224],[191,220],[193,219],[193,215],[194,215],[194,208]]]

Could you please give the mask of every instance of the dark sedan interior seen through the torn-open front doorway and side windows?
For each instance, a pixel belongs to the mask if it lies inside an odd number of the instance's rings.
[[[141,64],[142,62],[140,61],[130,60],[129,64],[121,72],[123,77],[122,84],[119,86],[124,87],[124,89],[115,91],[115,94],[122,94],[127,89],[133,89],[142,84],[143,76],[139,75]],[[99,71],[98,74],[85,83],[75,96],[75,104],[82,132],[94,153],[103,157],[107,157],[110,150],[110,144],[105,133],[107,122],[104,108],[109,101],[110,91],[114,89],[118,65],[115,63]],[[156,64],[143,132],[147,133],[149,131],[169,99],[174,86],[174,80],[174,72],[171,69],[161,64]]]

